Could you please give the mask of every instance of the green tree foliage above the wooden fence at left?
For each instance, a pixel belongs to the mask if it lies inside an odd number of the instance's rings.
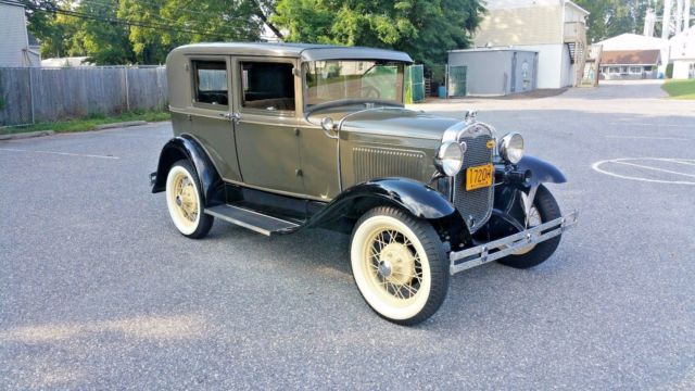
[[[257,40],[269,0],[24,0],[45,58],[161,64],[175,47]]]

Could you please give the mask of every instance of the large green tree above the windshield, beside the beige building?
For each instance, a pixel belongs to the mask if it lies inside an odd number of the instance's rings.
[[[417,62],[446,61],[480,22],[477,0],[278,0],[270,22],[288,41],[396,49]]]

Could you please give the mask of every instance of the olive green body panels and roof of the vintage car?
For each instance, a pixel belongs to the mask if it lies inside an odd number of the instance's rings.
[[[175,49],[167,59],[169,110],[174,135],[191,135],[204,148],[225,181],[279,194],[327,202],[341,191],[371,178],[354,169],[359,148],[401,153],[406,167],[387,176],[429,182],[443,130],[460,119],[435,117],[391,106],[354,113],[354,106],[304,112],[302,75],[294,77],[295,110],[267,111],[241,105],[240,62],[282,62],[301,70],[304,61],[380,59],[410,63],[404,53],[367,48],[314,45],[205,43]],[[222,60],[228,66],[230,104],[193,101],[191,61]],[[238,121],[230,125],[230,113]],[[320,121],[350,122],[326,135]],[[327,137],[332,136],[332,137]],[[340,137],[340,140],[333,137]],[[340,147],[339,147],[340,146]],[[407,164],[408,160],[417,161]],[[422,164],[420,162],[426,162]],[[412,162],[410,162],[412,163]]]

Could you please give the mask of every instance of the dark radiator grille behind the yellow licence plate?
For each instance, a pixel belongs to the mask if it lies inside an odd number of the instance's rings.
[[[466,141],[467,148],[464,153],[464,167],[454,180],[454,206],[464,217],[471,232],[478,230],[490,218],[494,187],[466,191],[466,168],[492,162],[494,149],[488,148],[490,140],[492,136],[488,133],[464,134],[459,138],[459,141]]]

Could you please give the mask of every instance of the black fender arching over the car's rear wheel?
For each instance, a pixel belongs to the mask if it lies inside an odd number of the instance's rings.
[[[174,137],[164,144],[152,180],[152,192],[166,190],[166,176],[174,163],[187,159],[200,180],[203,203],[211,206],[224,202],[224,182],[205,150],[189,135]]]

